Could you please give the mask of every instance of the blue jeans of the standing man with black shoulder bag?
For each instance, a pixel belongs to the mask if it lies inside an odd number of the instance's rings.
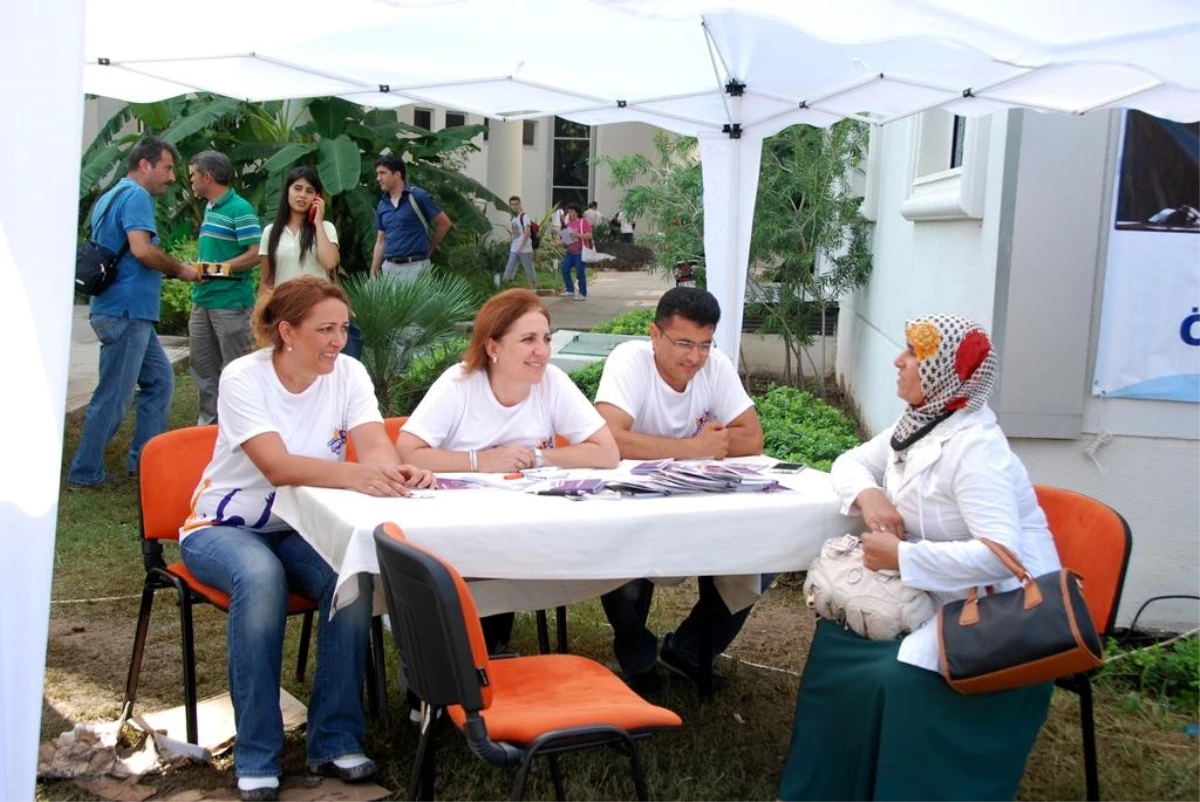
[[[67,474],[67,481],[77,485],[95,485],[106,479],[104,449],[130,411],[134,388],[137,424],[125,465],[136,473],[142,447],[167,431],[167,412],[175,391],[175,373],[152,321],[92,315],[91,329],[100,339],[100,381]]]

